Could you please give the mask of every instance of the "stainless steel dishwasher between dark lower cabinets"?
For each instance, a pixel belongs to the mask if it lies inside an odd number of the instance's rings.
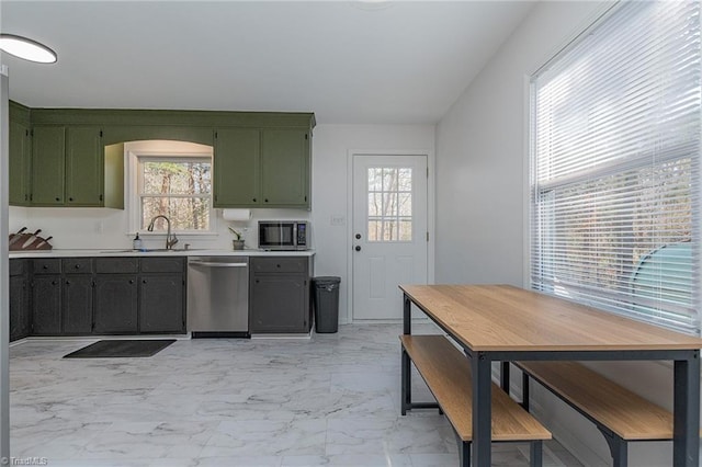
[[[188,330],[192,338],[250,338],[248,257],[190,257]]]

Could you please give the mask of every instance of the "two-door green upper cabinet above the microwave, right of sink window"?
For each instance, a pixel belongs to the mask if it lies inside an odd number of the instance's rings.
[[[214,206],[308,209],[309,159],[308,129],[217,129]]]

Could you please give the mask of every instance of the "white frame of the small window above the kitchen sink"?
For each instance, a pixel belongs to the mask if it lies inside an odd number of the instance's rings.
[[[135,232],[139,232],[139,237],[162,237],[163,232],[154,231],[150,232],[141,227],[141,192],[143,186],[143,173],[141,161],[143,160],[171,160],[171,161],[192,161],[195,159],[208,159],[210,163],[213,163],[212,151],[161,151],[161,150],[126,150],[126,172],[127,176],[127,212],[128,212],[128,226],[129,230],[127,236],[134,236]],[[172,231],[178,234],[181,238],[202,238],[202,237],[215,237],[217,236],[217,216],[213,207],[213,194],[208,195],[210,198],[210,229],[195,231],[195,230],[177,230]]]

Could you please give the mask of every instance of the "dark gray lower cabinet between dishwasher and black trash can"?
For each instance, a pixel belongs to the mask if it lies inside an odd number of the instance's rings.
[[[309,332],[309,258],[252,257],[251,333]]]

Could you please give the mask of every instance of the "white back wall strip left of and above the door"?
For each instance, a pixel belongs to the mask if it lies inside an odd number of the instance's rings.
[[[315,275],[341,277],[339,320],[348,322],[350,311],[348,253],[351,239],[347,209],[347,164],[350,150],[426,150],[434,151],[433,125],[318,125],[313,138],[313,236],[317,250]],[[331,225],[331,217],[342,216],[344,225]]]

